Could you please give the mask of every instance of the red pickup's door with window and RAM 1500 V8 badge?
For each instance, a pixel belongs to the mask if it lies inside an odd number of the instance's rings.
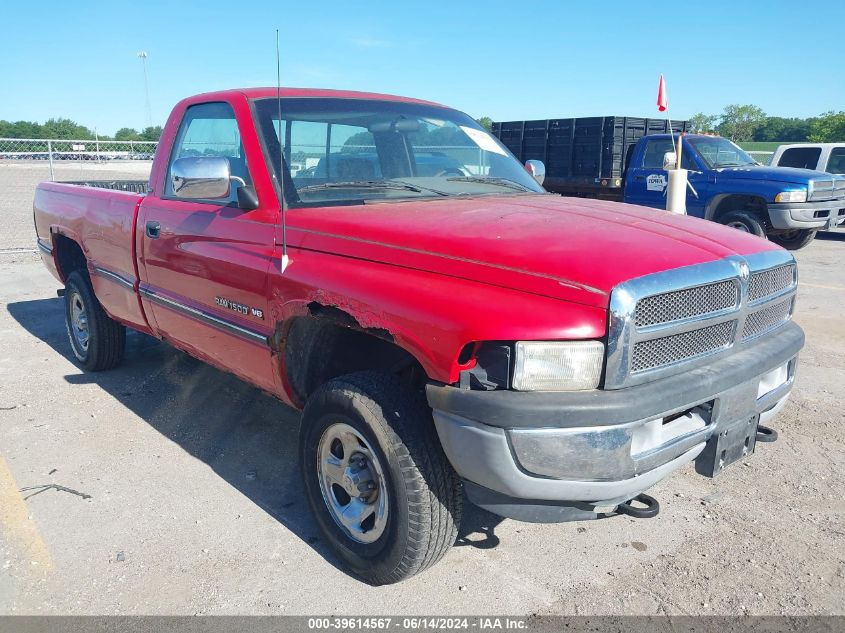
[[[173,161],[185,156],[226,157],[233,176],[228,199],[177,198],[170,174]],[[164,182],[141,207],[140,292],[165,339],[275,390],[267,273],[276,222],[266,208],[238,206],[240,181],[252,178],[232,106],[188,107]]]

